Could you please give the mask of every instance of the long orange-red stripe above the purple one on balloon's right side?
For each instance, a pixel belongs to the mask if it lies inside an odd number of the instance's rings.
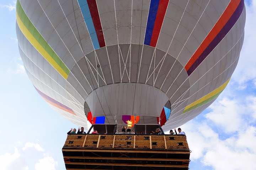
[[[229,2],[229,5],[226,7],[225,11],[223,12],[222,16],[219,18],[217,23],[214,25],[212,30],[209,32],[209,34],[206,36],[206,38],[203,40],[202,44],[198,47],[196,52],[193,54],[193,56],[190,58],[188,63],[185,66],[186,71],[190,69],[190,67],[193,65],[193,63],[197,60],[197,58],[203,53],[203,51],[208,47],[210,42],[215,38],[215,36],[220,32],[220,30],[225,26],[225,24],[228,22],[229,18],[233,15],[236,8],[238,7],[240,3],[240,0],[231,0]]]

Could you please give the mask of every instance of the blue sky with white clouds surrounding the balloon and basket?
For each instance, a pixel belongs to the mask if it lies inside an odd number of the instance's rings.
[[[18,52],[13,0],[0,0],[0,169],[64,170],[66,132],[78,128],[40,97]],[[191,170],[256,167],[256,0],[247,0],[238,66],[217,100],[181,126]]]

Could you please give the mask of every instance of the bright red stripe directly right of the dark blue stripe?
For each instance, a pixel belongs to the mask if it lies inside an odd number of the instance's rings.
[[[167,10],[169,0],[160,0],[158,6],[158,12],[156,13],[155,24],[152,32],[152,37],[150,41],[150,46],[155,47],[158,41],[160,30],[162,28],[162,23],[164,21],[165,12]]]

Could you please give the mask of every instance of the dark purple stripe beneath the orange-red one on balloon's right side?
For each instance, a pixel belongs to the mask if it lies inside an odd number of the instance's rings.
[[[233,15],[229,18],[229,21],[225,24],[225,26],[220,30],[220,32],[215,36],[215,38],[210,42],[208,47],[202,52],[202,54],[197,58],[197,60],[193,63],[190,69],[187,70],[188,76],[193,73],[193,71],[201,64],[204,59],[212,52],[212,50],[220,43],[220,41],[228,34],[231,28],[235,25],[236,21],[240,17],[242,11],[244,9],[244,0],[241,0],[238,7],[236,8]]]

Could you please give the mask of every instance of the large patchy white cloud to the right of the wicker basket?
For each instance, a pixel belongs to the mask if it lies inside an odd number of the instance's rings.
[[[256,167],[256,96],[218,98],[202,122],[183,125],[192,162],[214,170]],[[219,132],[219,133],[218,133]]]

